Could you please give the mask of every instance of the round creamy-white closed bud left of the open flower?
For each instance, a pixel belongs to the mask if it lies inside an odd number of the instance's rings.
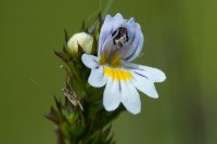
[[[86,53],[91,54],[93,37],[88,35],[87,32],[75,34],[67,42],[68,53],[72,55],[77,55],[78,44]]]

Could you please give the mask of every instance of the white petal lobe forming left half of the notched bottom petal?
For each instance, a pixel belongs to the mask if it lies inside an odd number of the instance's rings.
[[[106,110],[115,110],[120,103],[120,83],[117,80],[111,78],[107,79],[107,83],[103,94],[103,105]]]

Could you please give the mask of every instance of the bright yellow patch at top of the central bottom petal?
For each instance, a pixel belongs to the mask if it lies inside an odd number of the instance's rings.
[[[104,74],[107,77],[112,77],[115,80],[128,80],[132,79],[132,75],[124,69],[117,69],[117,68],[110,68],[110,67],[104,67]]]

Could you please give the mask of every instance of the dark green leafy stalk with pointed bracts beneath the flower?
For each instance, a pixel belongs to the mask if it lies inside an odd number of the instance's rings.
[[[99,14],[92,25],[84,25],[81,29],[81,32],[86,32],[93,40],[89,54],[97,55],[101,26],[102,17]],[[63,51],[54,52],[65,65],[62,66],[66,71],[65,86],[62,88],[63,96],[60,99],[54,96],[55,106],[51,107],[46,117],[55,125],[58,144],[112,144],[114,136],[111,122],[124,112],[124,107],[115,112],[104,109],[103,88],[93,89],[87,82],[90,69],[81,63],[84,44],[78,42],[77,52],[72,54],[68,52],[68,40],[65,30]]]

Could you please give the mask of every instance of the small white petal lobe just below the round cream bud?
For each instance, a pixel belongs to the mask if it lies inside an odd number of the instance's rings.
[[[81,61],[87,67],[93,68],[98,66],[99,58],[93,55],[82,54]]]

